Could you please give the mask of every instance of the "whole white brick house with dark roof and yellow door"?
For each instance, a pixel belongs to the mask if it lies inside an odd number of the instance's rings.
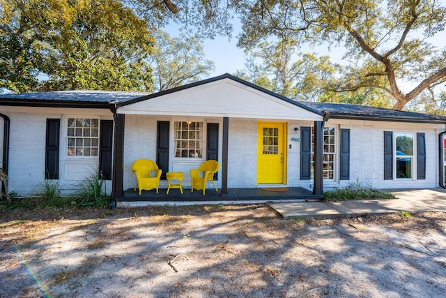
[[[130,167],[138,158],[156,161],[164,173],[185,172],[185,188],[191,168],[217,159],[222,196],[263,186],[321,195],[324,187],[352,183],[444,185],[446,117],[295,102],[227,74],[157,94],[1,95],[0,115],[1,140],[9,140],[0,142],[1,166],[9,190],[20,195],[32,195],[45,179],[70,190],[101,170],[107,192],[120,200],[135,185]]]

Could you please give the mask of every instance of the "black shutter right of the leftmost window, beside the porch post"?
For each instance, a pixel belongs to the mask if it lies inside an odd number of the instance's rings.
[[[99,172],[104,179],[112,179],[113,120],[100,121]]]

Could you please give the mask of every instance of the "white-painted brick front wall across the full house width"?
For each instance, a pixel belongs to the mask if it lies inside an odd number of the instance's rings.
[[[30,109],[31,110],[31,109]],[[59,112],[59,114],[58,114]],[[43,185],[45,178],[45,133],[46,119],[61,119],[61,179],[59,184],[63,188],[72,188],[79,181],[68,181],[63,178],[63,169],[66,169],[64,161],[64,115],[70,117],[83,114],[95,114],[94,111],[66,110],[63,114],[60,110],[40,109],[36,112],[3,112],[10,117],[10,159],[9,159],[9,190],[16,191],[19,195],[33,195],[38,192],[38,186]],[[97,111],[96,111],[97,112]],[[111,119],[111,113],[102,115],[102,119]],[[124,189],[134,187],[136,179],[131,171],[132,162],[138,158],[149,158],[156,160],[157,121],[174,121],[171,117],[153,117],[141,115],[126,115],[125,117],[125,145],[124,145]],[[220,127],[220,157],[222,161],[222,119],[191,119],[191,121],[208,121],[219,123]],[[332,122],[332,123],[330,123]],[[428,124],[387,124],[385,122],[364,121],[330,121],[328,126],[337,127],[339,142],[339,128],[351,130],[351,172],[350,180],[329,181],[330,185],[339,187],[348,186],[352,183],[360,183],[362,186],[374,188],[413,188],[413,187],[435,187],[438,182],[438,132],[437,126]],[[300,142],[291,140],[295,135],[294,127],[312,126],[313,122],[293,121],[287,124],[286,137],[286,185],[304,186],[312,185],[311,180],[300,180]],[[409,129],[408,129],[409,128]],[[258,121],[254,119],[229,119],[229,165],[228,186],[257,187],[256,185],[256,163],[257,163],[257,130]],[[383,180],[383,131],[394,132],[424,132],[426,134],[426,180]],[[0,141],[3,140],[3,120],[0,121]],[[2,150],[0,142],[0,150]],[[291,144],[291,148],[289,145]],[[206,137],[205,137],[206,146]],[[173,141],[171,142],[170,156],[173,156]],[[339,150],[339,148],[338,148]],[[339,156],[337,156],[337,169],[339,172]],[[97,161],[91,163],[95,167]],[[188,184],[190,167],[197,167],[189,163],[187,165],[176,165],[176,168],[185,167],[185,186]],[[170,165],[171,166],[171,165]],[[187,169],[186,169],[187,167]],[[169,169],[172,170],[172,169]],[[175,169],[174,169],[175,170]],[[162,181],[161,187],[165,187],[166,181]],[[221,168],[217,186],[221,187]],[[107,183],[107,191],[112,186]]]

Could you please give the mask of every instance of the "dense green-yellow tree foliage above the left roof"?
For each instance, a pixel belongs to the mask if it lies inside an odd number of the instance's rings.
[[[151,90],[155,40],[115,0],[1,0],[0,87]]]

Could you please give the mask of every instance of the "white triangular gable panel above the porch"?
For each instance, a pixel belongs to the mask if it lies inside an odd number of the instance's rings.
[[[322,121],[323,117],[239,82],[223,79],[118,107],[118,114]]]

